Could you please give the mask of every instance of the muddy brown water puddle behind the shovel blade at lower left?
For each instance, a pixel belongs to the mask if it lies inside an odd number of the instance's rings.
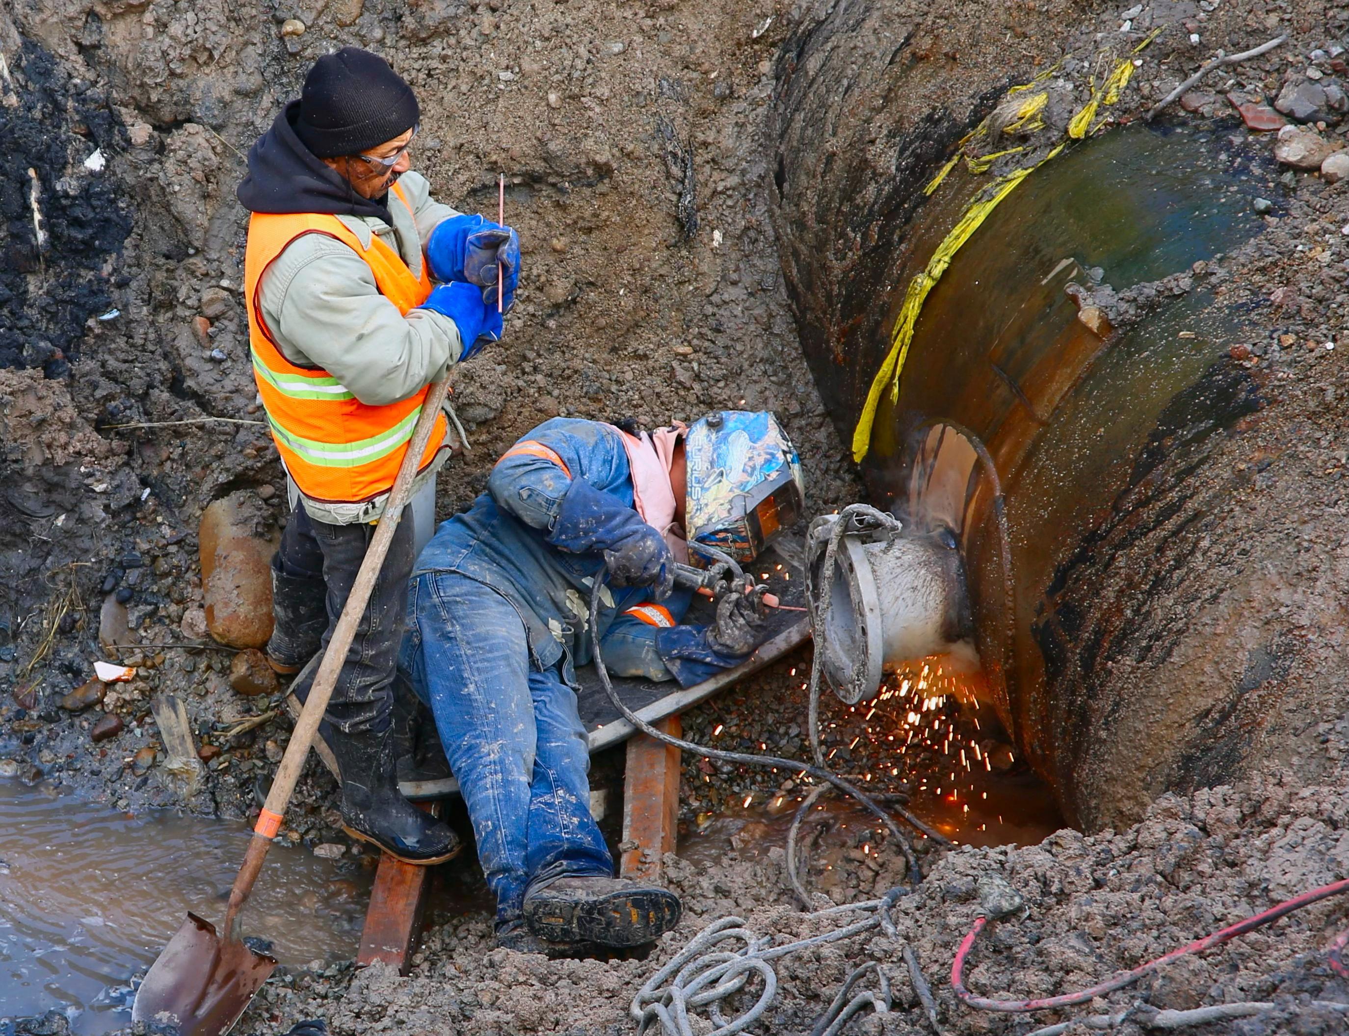
[[[127,1025],[132,977],[188,911],[219,921],[248,838],[241,822],[132,817],[0,780],[0,1023],[57,1009],[80,1036]],[[277,846],[244,931],[283,965],[349,960],[370,885],[359,861]]]

